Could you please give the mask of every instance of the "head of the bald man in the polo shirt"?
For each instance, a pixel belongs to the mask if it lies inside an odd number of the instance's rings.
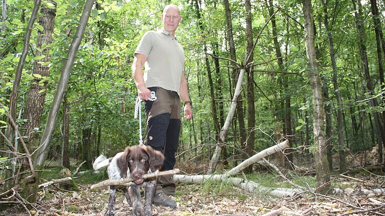
[[[163,9],[162,20],[164,29],[174,35],[179,22],[182,20],[179,7],[175,4],[166,5]]]

